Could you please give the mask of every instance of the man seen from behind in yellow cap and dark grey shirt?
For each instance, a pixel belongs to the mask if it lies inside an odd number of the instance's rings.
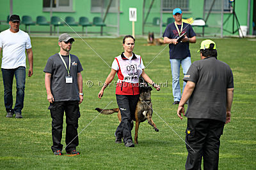
[[[225,62],[217,60],[214,41],[204,40],[200,47],[201,60],[193,62],[184,81],[185,90],[180,99],[177,115],[182,119],[184,104],[188,101],[186,169],[218,169],[220,136],[230,122],[233,101],[233,74]],[[192,149],[191,149],[192,148]]]

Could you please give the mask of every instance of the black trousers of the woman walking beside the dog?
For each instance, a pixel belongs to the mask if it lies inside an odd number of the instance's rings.
[[[116,138],[124,138],[124,143],[132,142],[132,125],[131,120],[135,120],[135,110],[140,95],[118,95],[116,94],[116,102],[121,112],[122,121],[118,125],[115,135]]]

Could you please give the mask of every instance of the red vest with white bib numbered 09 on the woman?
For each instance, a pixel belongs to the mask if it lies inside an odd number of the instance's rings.
[[[117,71],[118,81],[116,84],[116,94],[137,95],[140,94],[139,78],[142,73],[140,68],[141,57],[132,53],[132,59],[129,60],[124,53],[115,57],[119,69]]]

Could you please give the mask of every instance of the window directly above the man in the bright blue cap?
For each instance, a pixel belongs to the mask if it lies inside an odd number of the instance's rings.
[[[180,8],[182,11],[188,11],[189,0],[163,0],[163,11],[170,11],[174,8]]]

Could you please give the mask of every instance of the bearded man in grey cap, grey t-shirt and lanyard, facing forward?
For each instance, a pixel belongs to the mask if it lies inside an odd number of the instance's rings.
[[[45,66],[45,89],[52,117],[52,152],[62,155],[63,114],[66,114],[66,151],[77,154],[79,104],[83,101],[83,67],[76,55],[70,54],[74,38],[68,34],[59,37],[60,52],[52,55]],[[74,140],[73,140],[74,139]]]

